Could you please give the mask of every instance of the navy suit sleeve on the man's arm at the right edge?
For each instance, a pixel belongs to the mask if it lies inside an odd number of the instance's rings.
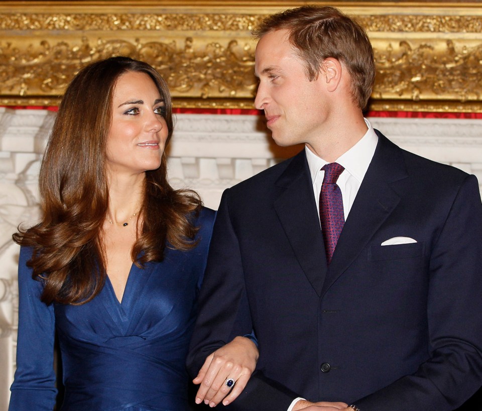
[[[361,411],[448,411],[482,384],[482,204],[473,175],[462,182],[430,252],[430,358],[415,374],[355,401]]]

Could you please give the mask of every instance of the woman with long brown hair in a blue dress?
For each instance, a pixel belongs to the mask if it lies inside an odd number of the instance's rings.
[[[166,82],[113,57],[62,99],[39,175],[43,218],[20,231],[11,411],[186,410],[185,357],[214,212],[167,181]],[[242,358],[241,362],[249,361]]]

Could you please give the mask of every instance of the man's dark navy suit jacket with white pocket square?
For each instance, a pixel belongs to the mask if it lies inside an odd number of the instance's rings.
[[[188,367],[253,329],[257,372],[231,409],[445,411],[482,385],[477,179],[377,134],[329,267],[304,151],[223,193]],[[394,237],[416,243],[381,245]]]

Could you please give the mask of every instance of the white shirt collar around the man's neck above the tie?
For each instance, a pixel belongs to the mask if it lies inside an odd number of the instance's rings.
[[[378,136],[371,123],[367,119],[364,120],[368,127],[365,135],[353,147],[335,160],[360,183],[365,177],[378,143]],[[310,168],[311,181],[314,182],[321,167],[328,162],[318,157],[307,146],[305,146],[305,153]]]

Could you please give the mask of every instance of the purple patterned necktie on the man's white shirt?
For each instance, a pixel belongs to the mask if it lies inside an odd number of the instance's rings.
[[[336,184],[344,168],[338,163],[330,163],[325,164],[321,169],[325,175],[320,192],[320,221],[325,241],[326,260],[329,264],[345,223],[341,190]]]

